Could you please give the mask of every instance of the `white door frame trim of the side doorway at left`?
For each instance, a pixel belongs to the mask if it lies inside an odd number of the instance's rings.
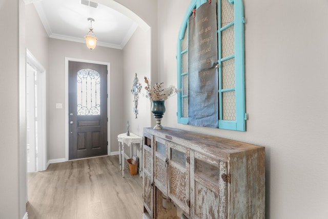
[[[46,69],[37,61],[33,54],[26,49],[26,64],[29,64],[36,70],[38,84],[37,84],[37,110],[40,114],[38,116],[38,165],[37,171],[44,171],[47,169],[47,89],[46,89]]]

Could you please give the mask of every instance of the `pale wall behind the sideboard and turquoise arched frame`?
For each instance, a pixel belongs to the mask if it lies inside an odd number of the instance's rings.
[[[158,78],[176,85],[176,44],[190,1],[158,1]],[[162,124],[265,146],[266,218],[328,218],[328,2],[244,1],[247,131]]]

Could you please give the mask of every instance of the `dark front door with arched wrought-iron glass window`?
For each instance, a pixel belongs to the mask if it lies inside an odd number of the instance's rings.
[[[107,155],[107,65],[69,68],[69,160]]]

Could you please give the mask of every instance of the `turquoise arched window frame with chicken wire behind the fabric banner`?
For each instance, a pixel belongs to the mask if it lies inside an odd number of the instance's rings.
[[[206,3],[193,0],[180,27],[177,44],[178,123],[188,124],[188,19]],[[245,131],[244,15],[242,0],[216,0],[218,34],[218,128]]]

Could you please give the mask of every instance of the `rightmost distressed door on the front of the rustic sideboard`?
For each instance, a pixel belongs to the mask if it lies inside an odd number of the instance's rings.
[[[191,217],[228,218],[227,162],[191,151],[190,168]]]

